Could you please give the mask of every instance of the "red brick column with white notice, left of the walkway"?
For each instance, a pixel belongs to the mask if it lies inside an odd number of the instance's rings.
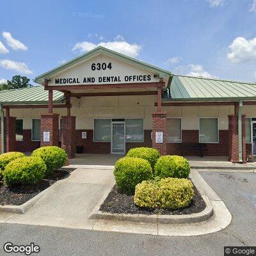
[[[50,141],[44,141],[44,132],[50,132]],[[41,114],[41,147],[58,146],[60,143],[59,114]]]

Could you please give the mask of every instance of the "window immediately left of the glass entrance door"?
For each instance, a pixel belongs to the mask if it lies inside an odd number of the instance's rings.
[[[94,120],[94,141],[110,141],[110,119]]]

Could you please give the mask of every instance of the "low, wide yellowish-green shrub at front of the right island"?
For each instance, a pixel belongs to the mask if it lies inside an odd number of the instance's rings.
[[[194,195],[188,179],[146,180],[136,186],[134,203],[140,207],[179,209],[190,204]]]

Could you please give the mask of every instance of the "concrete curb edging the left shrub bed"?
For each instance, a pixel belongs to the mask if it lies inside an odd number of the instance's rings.
[[[56,183],[54,183],[54,184],[56,184]],[[52,184],[52,186],[54,186],[54,184]],[[49,188],[52,188],[52,186],[49,186],[48,188],[44,189],[42,192],[40,192],[38,195],[34,196],[33,198],[29,199],[24,204],[21,204],[21,205],[0,205],[0,212],[12,212],[12,213],[24,214],[34,204],[36,204],[36,202],[40,198],[42,198],[42,196],[44,196],[44,194],[47,192],[47,190]]]

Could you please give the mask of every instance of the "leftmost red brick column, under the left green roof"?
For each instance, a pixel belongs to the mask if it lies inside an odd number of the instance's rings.
[[[16,117],[5,117],[5,151],[15,151]]]

